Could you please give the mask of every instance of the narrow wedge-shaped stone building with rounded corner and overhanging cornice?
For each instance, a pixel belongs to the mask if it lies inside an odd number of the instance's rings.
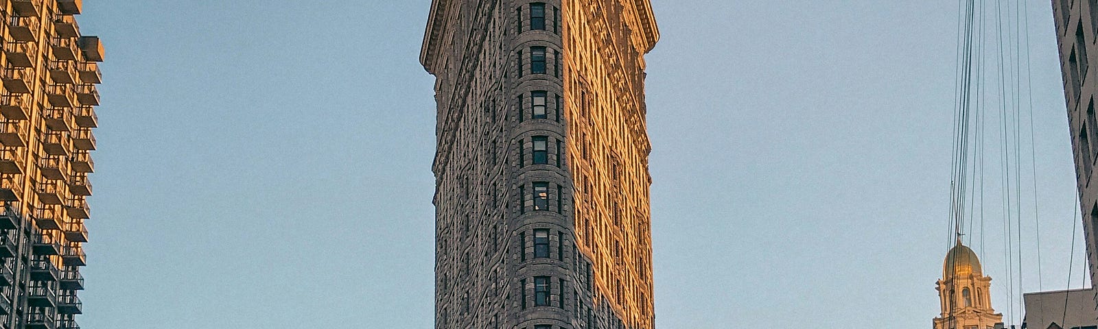
[[[652,328],[647,0],[434,0],[436,328]]]

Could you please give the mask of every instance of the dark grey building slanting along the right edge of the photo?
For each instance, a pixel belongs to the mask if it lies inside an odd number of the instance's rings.
[[[1098,0],[1053,0],[1056,39],[1060,44],[1061,70],[1064,76],[1064,98],[1075,152],[1075,178],[1086,232],[1087,263],[1090,282],[1098,282],[1098,120],[1095,98],[1098,98],[1098,72],[1089,69],[1090,56],[1098,56]],[[1094,76],[1095,78],[1090,78]],[[1094,183],[1094,184],[1091,184]],[[1093,291],[1094,292],[1094,291]],[[1098,295],[1094,296],[1098,299]]]

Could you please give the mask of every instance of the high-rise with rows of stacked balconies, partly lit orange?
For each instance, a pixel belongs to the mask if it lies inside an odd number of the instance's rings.
[[[80,0],[0,0],[0,328],[79,328],[99,38]]]

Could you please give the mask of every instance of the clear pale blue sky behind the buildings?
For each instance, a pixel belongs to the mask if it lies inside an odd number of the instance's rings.
[[[652,0],[658,327],[930,326],[956,2]],[[108,61],[81,326],[432,328],[428,7],[87,1]],[[1063,288],[1074,169],[1051,9],[1030,11],[1042,286]]]

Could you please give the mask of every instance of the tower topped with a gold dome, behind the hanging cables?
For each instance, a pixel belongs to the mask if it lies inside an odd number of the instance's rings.
[[[984,275],[976,253],[961,243],[945,254],[938,281],[941,315],[934,329],[993,329],[1002,326],[1002,314],[991,308],[991,277]]]

